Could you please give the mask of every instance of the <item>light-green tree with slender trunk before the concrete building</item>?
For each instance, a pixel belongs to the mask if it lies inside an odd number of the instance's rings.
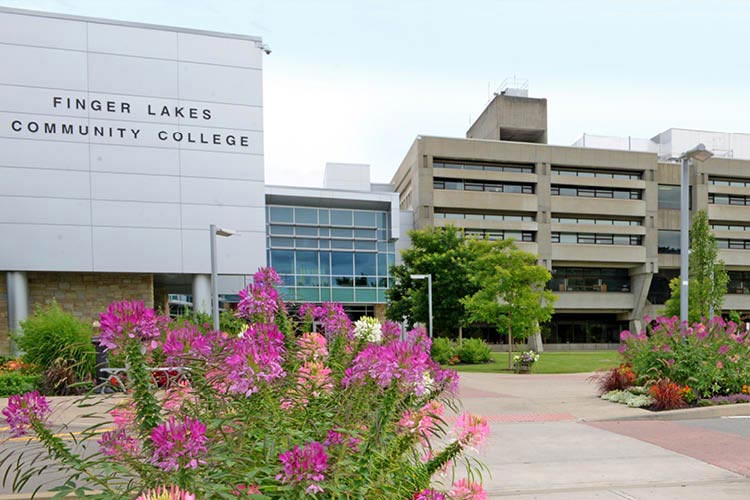
[[[499,243],[510,243],[499,245]],[[551,275],[537,257],[512,242],[473,240],[476,255],[470,281],[477,290],[463,299],[470,321],[494,325],[508,335],[508,368],[513,368],[513,339],[532,335],[552,317],[557,297],[544,288]]]

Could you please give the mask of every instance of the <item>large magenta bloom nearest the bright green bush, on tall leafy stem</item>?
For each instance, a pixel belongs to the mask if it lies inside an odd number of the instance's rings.
[[[158,345],[159,321],[153,309],[143,301],[113,302],[99,315],[99,343],[117,353],[131,340],[142,342],[147,349]]]

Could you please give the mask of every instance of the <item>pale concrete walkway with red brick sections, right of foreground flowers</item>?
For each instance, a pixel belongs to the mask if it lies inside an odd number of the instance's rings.
[[[750,419],[656,420],[597,398],[588,376],[461,374],[464,407],[491,422],[490,498],[750,498]],[[738,408],[750,415],[718,412]]]

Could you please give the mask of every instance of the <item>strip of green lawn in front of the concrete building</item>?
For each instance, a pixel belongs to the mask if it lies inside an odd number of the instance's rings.
[[[454,365],[460,372],[509,373],[508,353],[493,352],[491,363],[481,365]],[[531,373],[581,373],[601,368],[612,368],[621,362],[617,351],[543,352]]]

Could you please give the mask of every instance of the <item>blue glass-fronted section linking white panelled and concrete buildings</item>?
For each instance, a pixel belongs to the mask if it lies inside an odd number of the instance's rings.
[[[266,205],[267,260],[288,302],[385,317],[402,222],[398,194],[370,183],[369,165],[329,163],[323,188],[266,186]]]

